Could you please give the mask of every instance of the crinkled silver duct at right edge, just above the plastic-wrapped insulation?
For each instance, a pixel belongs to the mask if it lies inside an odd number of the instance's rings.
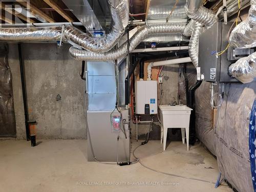
[[[253,81],[256,78],[256,52],[233,63],[228,71],[232,77],[243,83]]]

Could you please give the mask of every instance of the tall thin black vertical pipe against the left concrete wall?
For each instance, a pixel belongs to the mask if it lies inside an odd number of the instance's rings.
[[[24,103],[26,136],[27,136],[27,141],[29,141],[30,140],[29,113],[28,113],[28,100],[27,100],[25,67],[24,67],[24,62],[23,62],[23,58],[22,58],[22,48],[21,48],[20,44],[18,44],[18,57],[19,57],[20,79],[22,80],[22,94],[23,94],[23,103]]]

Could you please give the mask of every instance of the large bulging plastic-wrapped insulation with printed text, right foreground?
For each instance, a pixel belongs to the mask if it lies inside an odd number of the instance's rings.
[[[215,151],[222,176],[238,191],[254,191],[249,157],[249,117],[256,83],[228,83],[218,108]]]

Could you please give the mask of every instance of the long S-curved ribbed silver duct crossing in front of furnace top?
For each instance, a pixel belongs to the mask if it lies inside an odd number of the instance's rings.
[[[143,26],[130,39],[129,51],[133,51],[146,37],[160,33],[183,33],[184,28],[185,24],[183,23]],[[74,47],[71,47],[69,51],[70,55],[76,60],[112,61],[127,54],[127,42],[116,50],[106,53],[93,53],[86,50],[78,50]]]

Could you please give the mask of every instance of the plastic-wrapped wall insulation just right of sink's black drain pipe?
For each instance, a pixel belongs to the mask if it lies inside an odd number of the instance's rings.
[[[212,127],[212,110],[210,105],[211,83],[203,81],[195,92],[195,112],[196,112],[196,134],[198,139],[216,155],[214,145],[214,132]],[[215,87],[218,91],[218,86]]]

